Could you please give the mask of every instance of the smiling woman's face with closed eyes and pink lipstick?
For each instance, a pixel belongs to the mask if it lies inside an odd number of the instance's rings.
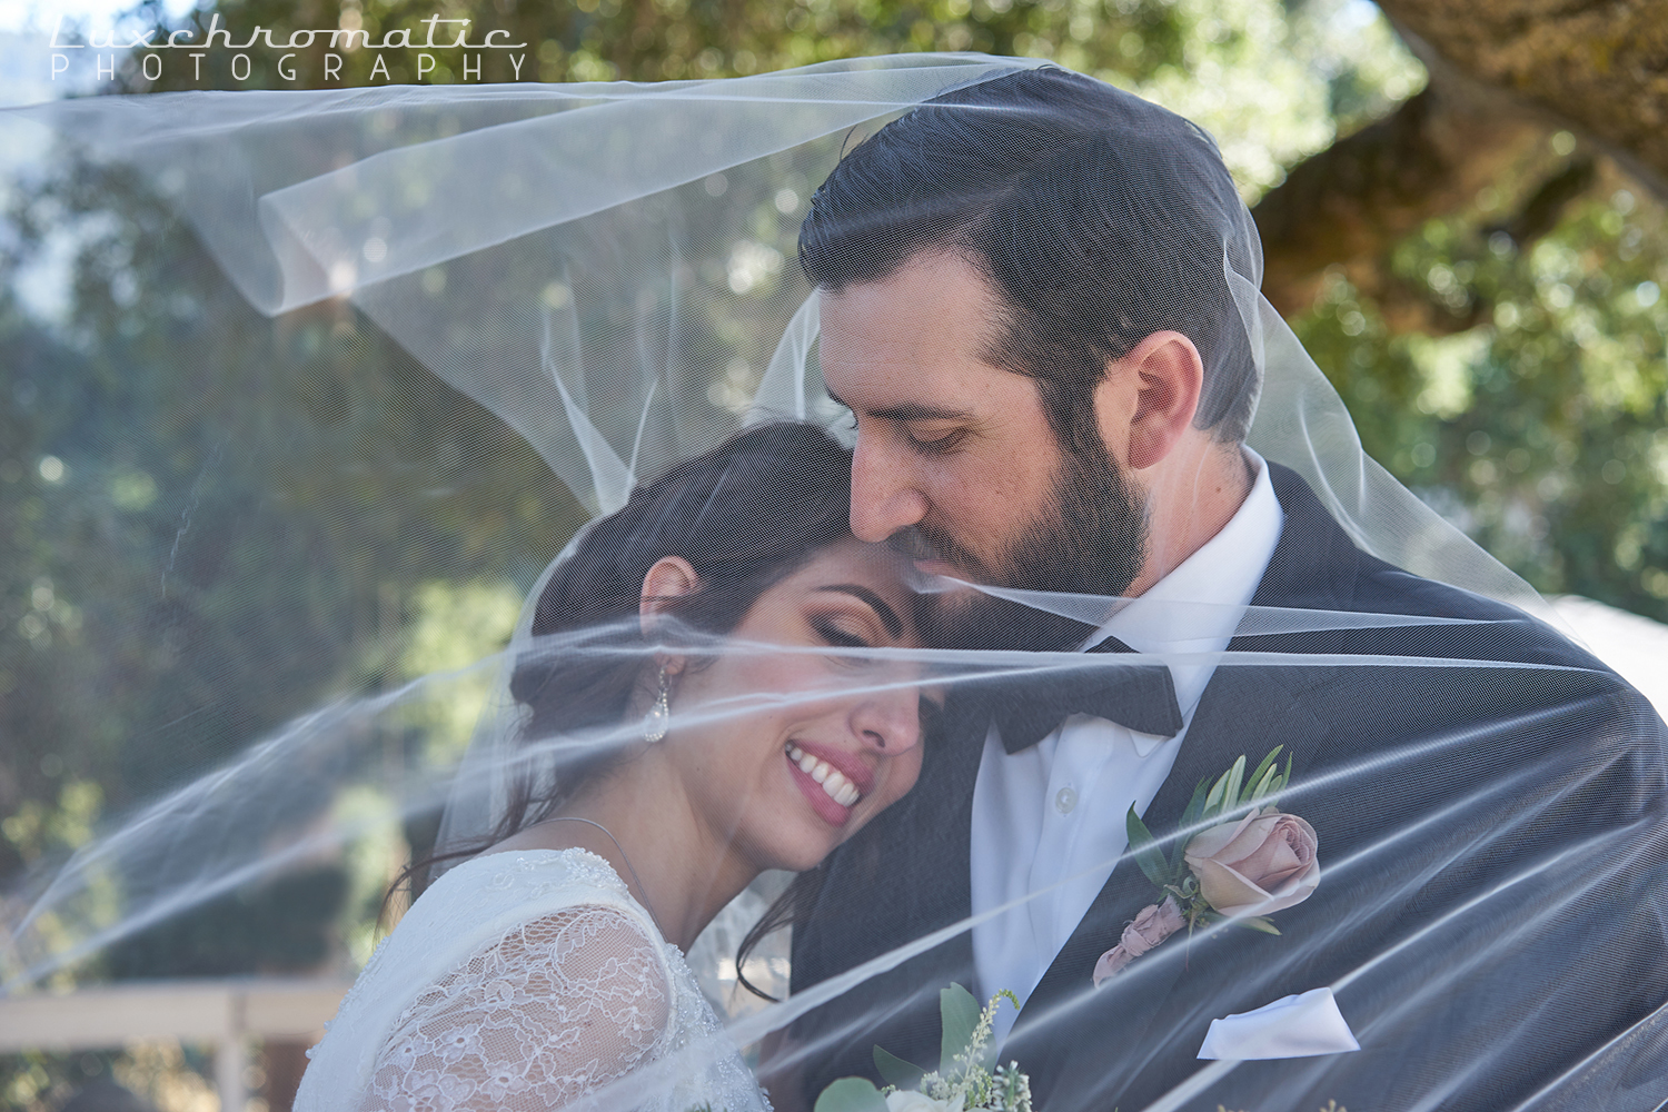
[[[826,548],[679,677],[666,755],[759,869],[811,869],[914,787],[921,667],[827,652],[917,644],[904,570],[884,545]]]

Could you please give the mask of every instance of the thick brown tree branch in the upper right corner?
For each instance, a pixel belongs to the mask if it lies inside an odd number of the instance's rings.
[[[1306,308],[1331,265],[1371,287],[1396,240],[1465,207],[1558,127],[1668,195],[1668,0],[1383,0],[1383,8],[1431,83],[1294,167],[1258,203],[1263,292],[1283,313]],[[1403,323],[1418,327],[1418,313]]]

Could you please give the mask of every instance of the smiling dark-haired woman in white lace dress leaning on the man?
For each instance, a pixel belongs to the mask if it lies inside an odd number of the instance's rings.
[[[902,557],[851,537],[849,490],[827,433],[762,425],[587,530],[534,617],[562,645],[515,662],[525,760],[490,845],[365,967],[297,1109],[555,1109],[719,1030],[682,959],[701,929],[921,770],[907,665],[862,655],[914,640]],[[631,1104],[764,1105],[739,1055],[706,1062]]]

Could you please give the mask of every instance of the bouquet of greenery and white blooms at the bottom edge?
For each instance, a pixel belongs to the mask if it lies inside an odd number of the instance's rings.
[[[991,1025],[996,1009],[1019,1000],[1002,990],[979,1007],[961,985],[939,992],[944,1020],[939,1067],[926,1072],[874,1049],[874,1065],[889,1084],[876,1089],[862,1077],[841,1077],[817,1097],[814,1112],[1031,1112],[1031,1079],[1017,1062],[996,1065]]]

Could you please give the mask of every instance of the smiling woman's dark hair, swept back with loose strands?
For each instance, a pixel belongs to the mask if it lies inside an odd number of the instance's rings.
[[[777,422],[737,433],[637,487],[626,505],[592,522],[545,582],[510,694],[529,710],[522,744],[615,730],[644,702],[654,645],[639,622],[642,584],[664,557],[682,557],[699,580],[666,600],[681,640],[731,634],[761,594],[817,552],[851,537],[851,450],[816,425]],[[554,644],[552,644],[554,642]],[[430,865],[472,857],[555,815],[619,759],[619,747],[547,762],[517,762],[504,815],[490,834],[414,862],[395,885],[420,894]],[[771,930],[794,922],[821,885],[801,874],[742,940],[741,960]],[[741,982],[752,992],[746,977]],[[762,994],[761,994],[762,995]]]

